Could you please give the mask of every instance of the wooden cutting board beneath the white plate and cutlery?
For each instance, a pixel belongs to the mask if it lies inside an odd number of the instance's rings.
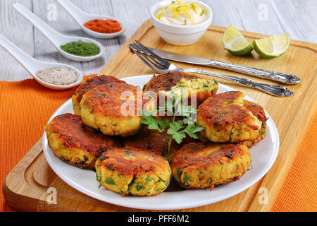
[[[292,40],[287,53],[276,59],[263,59],[255,52],[252,52],[248,57],[235,57],[223,49],[222,35],[224,30],[225,28],[211,26],[204,37],[196,44],[187,47],[176,47],[161,40],[151,22],[147,20],[118,51],[116,56],[108,62],[101,74],[105,73],[123,78],[154,73],[135,54],[130,52],[128,44],[134,40],[139,40],[143,44],[158,49],[197,57],[213,58],[271,71],[293,73],[302,78],[302,83],[299,85],[287,85],[288,88],[294,91],[294,96],[292,97],[273,97],[258,90],[217,79],[220,83],[242,90],[242,92],[254,98],[256,102],[259,102],[266,109],[278,128],[280,151],[271,170],[246,191],[218,203],[187,210],[268,211],[271,210],[275,198],[278,196],[287,172],[294,161],[294,157],[297,155],[299,145],[311,123],[313,114],[316,112],[317,44]],[[242,32],[242,34],[249,42],[265,37],[265,35],[251,32]],[[177,65],[180,67],[191,66],[180,63],[177,63]],[[221,69],[211,69],[204,66],[195,67],[237,76],[237,73]],[[238,76],[251,78],[244,75]],[[251,79],[262,83],[274,84],[271,81],[265,81],[260,78],[252,77]],[[49,188],[56,189],[57,204],[47,203],[47,198],[53,194]],[[68,186],[56,176],[47,164],[42,151],[42,139],[8,174],[4,182],[3,191],[6,203],[15,210],[21,211],[137,211],[136,209],[97,201]],[[263,203],[261,198],[263,191],[268,192],[267,203]]]

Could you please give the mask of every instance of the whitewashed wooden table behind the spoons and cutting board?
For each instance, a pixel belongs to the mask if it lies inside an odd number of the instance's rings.
[[[89,13],[113,16],[125,24],[125,34],[111,40],[98,40],[104,57],[91,62],[70,61],[12,7],[20,2],[39,18],[66,35],[89,37],[54,0],[1,0],[0,33],[27,54],[42,61],[70,64],[85,75],[99,73],[128,38],[149,18],[149,8],[159,0],[71,0]],[[213,25],[278,35],[289,32],[293,40],[317,42],[316,0],[201,0],[213,9]],[[56,7],[56,20],[54,20]],[[52,11],[53,10],[53,11]],[[50,14],[53,12],[53,14]],[[93,37],[92,37],[93,38]],[[20,81],[31,76],[0,47],[0,81]]]

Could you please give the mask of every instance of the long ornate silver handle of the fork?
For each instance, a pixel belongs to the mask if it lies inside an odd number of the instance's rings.
[[[251,88],[256,88],[258,90],[263,90],[264,92],[269,93],[271,95],[275,95],[275,96],[292,96],[293,95],[292,90],[289,90],[282,85],[270,85],[270,84],[256,83],[256,82],[251,81],[247,78],[238,78],[235,76],[225,76],[225,75],[221,75],[219,73],[213,73],[213,72],[204,71],[201,69],[181,69],[181,71],[189,72],[189,73],[190,72],[191,73],[202,73],[202,74],[206,74],[209,76],[224,78],[224,79],[227,79],[229,81],[239,83],[241,85],[249,86]]]

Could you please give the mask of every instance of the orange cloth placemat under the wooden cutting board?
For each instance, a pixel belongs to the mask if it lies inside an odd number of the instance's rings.
[[[32,79],[0,82],[1,211],[13,211],[2,194],[6,175],[41,138],[51,114],[74,91],[48,90]],[[316,211],[316,129],[317,115],[272,210]]]

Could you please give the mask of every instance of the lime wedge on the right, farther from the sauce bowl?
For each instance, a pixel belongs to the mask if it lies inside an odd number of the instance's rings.
[[[254,40],[255,51],[265,58],[280,57],[290,46],[290,35],[288,33],[265,37],[261,40]]]

